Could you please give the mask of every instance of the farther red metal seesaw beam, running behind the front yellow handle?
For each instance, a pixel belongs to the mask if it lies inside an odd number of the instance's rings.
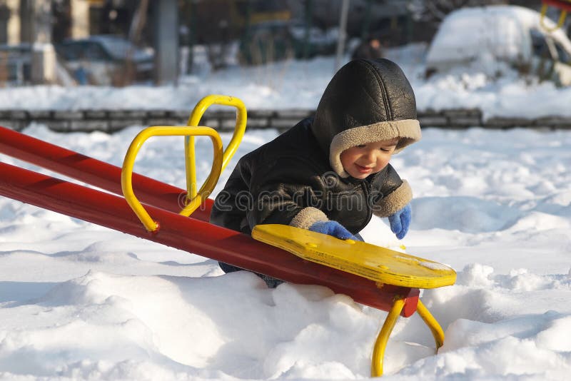
[[[121,168],[9,128],[0,127],[0,153],[75,178],[108,192],[123,195]],[[186,196],[186,191],[181,188],[137,173],[133,173],[133,191],[141,203],[177,213],[183,208],[182,202]],[[208,221],[212,204],[213,200],[206,200],[192,217]]]

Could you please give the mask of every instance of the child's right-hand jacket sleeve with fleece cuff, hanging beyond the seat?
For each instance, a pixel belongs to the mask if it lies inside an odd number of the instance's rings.
[[[413,190],[408,181],[401,180],[395,168],[388,164],[380,171],[372,184],[373,214],[377,217],[388,217],[402,209],[413,199]]]

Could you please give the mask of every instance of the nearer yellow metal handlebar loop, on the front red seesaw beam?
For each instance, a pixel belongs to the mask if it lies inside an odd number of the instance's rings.
[[[213,188],[218,182],[220,173],[222,172],[223,163],[223,151],[222,151],[222,141],[216,130],[210,127],[194,127],[188,128],[188,126],[153,126],[145,128],[143,131],[138,133],[138,135],[133,139],[131,146],[127,151],[125,159],[123,160],[123,168],[121,171],[121,189],[123,190],[123,195],[127,200],[127,203],[133,209],[133,212],[137,215],[141,223],[145,226],[146,230],[154,232],[158,228],[158,223],[151,218],[151,215],[147,213],[143,205],[138,201],[133,193],[133,166],[135,163],[135,158],[139,149],[143,143],[151,136],[209,136],[213,143],[213,163],[211,173],[206,179],[205,183],[192,198],[189,198],[189,203],[181,211],[181,215],[191,215],[191,213],[201,205],[202,200],[207,198],[212,192]]]

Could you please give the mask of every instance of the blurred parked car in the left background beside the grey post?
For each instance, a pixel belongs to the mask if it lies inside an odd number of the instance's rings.
[[[56,45],[56,51],[79,83],[116,85],[153,76],[152,51],[139,49],[120,36],[69,39]]]

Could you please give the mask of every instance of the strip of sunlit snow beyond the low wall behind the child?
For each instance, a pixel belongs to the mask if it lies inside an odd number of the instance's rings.
[[[507,72],[492,81],[484,73],[423,78],[426,46],[413,44],[389,49],[387,58],[400,64],[415,90],[418,109],[480,108],[485,118],[571,116],[571,88],[536,83]],[[0,109],[171,109],[188,110],[210,93],[237,96],[248,109],[317,107],[333,76],[335,59],[284,61],[267,66],[233,66],[181,78],[178,86],[29,86],[0,88]],[[533,105],[533,107],[530,107]]]

